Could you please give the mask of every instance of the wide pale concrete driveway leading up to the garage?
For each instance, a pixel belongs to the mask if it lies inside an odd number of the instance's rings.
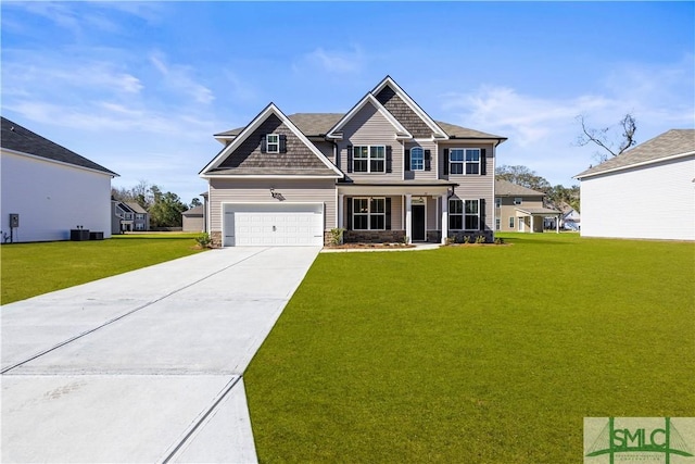
[[[242,375],[319,251],[213,250],[4,305],[2,462],[256,462]]]

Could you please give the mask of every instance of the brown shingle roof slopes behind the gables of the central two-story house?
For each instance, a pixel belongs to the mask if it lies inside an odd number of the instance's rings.
[[[287,116],[298,129],[307,137],[323,137],[344,116],[343,113],[295,113]],[[481,133],[480,130],[468,129],[454,124],[441,123],[437,121],[442,129],[451,138],[476,138],[476,139],[500,139],[505,137],[493,134]],[[236,137],[243,130],[243,127],[215,134],[215,137]]]

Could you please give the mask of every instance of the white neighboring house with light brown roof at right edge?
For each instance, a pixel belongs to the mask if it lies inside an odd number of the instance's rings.
[[[672,129],[574,176],[584,237],[695,240],[695,129]]]

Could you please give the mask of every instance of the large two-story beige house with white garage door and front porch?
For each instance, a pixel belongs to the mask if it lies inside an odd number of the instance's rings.
[[[387,76],[348,113],[268,104],[201,171],[216,246],[444,242],[494,228],[495,152],[506,138],[433,121]]]

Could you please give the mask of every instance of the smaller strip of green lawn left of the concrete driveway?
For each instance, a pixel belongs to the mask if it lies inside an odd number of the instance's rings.
[[[198,234],[132,234],[106,240],[0,247],[1,304],[197,253]]]

